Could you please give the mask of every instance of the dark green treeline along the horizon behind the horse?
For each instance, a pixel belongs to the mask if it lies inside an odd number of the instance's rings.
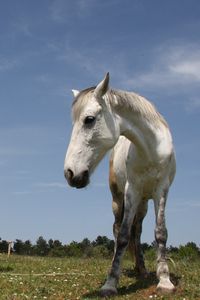
[[[142,244],[144,254],[148,258],[153,258],[156,255],[156,243],[151,245]],[[0,253],[7,253],[8,242],[0,239]],[[23,242],[16,239],[13,243],[12,252],[18,255],[29,256],[52,256],[52,257],[111,257],[114,251],[114,241],[106,236],[98,236],[94,241],[88,238],[82,242],[72,241],[68,245],[63,245],[59,240],[50,239],[46,241],[40,236],[35,244],[30,240]],[[200,248],[194,243],[189,242],[186,245],[179,247],[170,246],[167,249],[169,255],[179,256],[180,258],[200,258]]]

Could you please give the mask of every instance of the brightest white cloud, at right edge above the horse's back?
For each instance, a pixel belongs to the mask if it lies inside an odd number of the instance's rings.
[[[184,87],[200,82],[200,47],[198,45],[160,46],[155,50],[149,69],[126,85],[152,88]]]

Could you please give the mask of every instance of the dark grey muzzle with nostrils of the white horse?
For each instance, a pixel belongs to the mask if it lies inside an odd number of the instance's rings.
[[[89,171],[85,170],[82,173],[75,175],[71,169],[64,171],[65,178],[70,186],[81,189],[89,183]]]

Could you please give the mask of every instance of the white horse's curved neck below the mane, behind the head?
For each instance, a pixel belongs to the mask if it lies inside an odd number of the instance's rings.
[[[151,118],[145,117],[144,114],[134,109],[134,102],[128,105],[126,99],[123,107],[121,107],[119,99],[117,99],[117,96],[115,97],[114,111],[118,120],[120,134],[134,143],[142,157],[153,161],[158,159],[158,155],[161,154],[162,156],[163,154],[165,156],[165,154],[171,152],[172,141],[168,126],[162,117],[159,119],[160,116],[156,110],[152,113],[158,116],[158,120],[151,122]]]

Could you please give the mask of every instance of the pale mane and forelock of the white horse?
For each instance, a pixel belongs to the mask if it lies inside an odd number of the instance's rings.
[[[94,90],[95,87],[84,89],[80,91],[77,97],[75,97],[72,103],[73,120],[77,120],[79,118],[83,107],[90,100]],[[157,111],[153,103],[134,92],[110,89],[104,97],[110,103],[111,107],[115,107],[119,111],[126,110],[128,108],[134,113],[143,116],[144,119],[154,125],[159,126],[159,123],[161,122],[168,127],[164,117]]]

